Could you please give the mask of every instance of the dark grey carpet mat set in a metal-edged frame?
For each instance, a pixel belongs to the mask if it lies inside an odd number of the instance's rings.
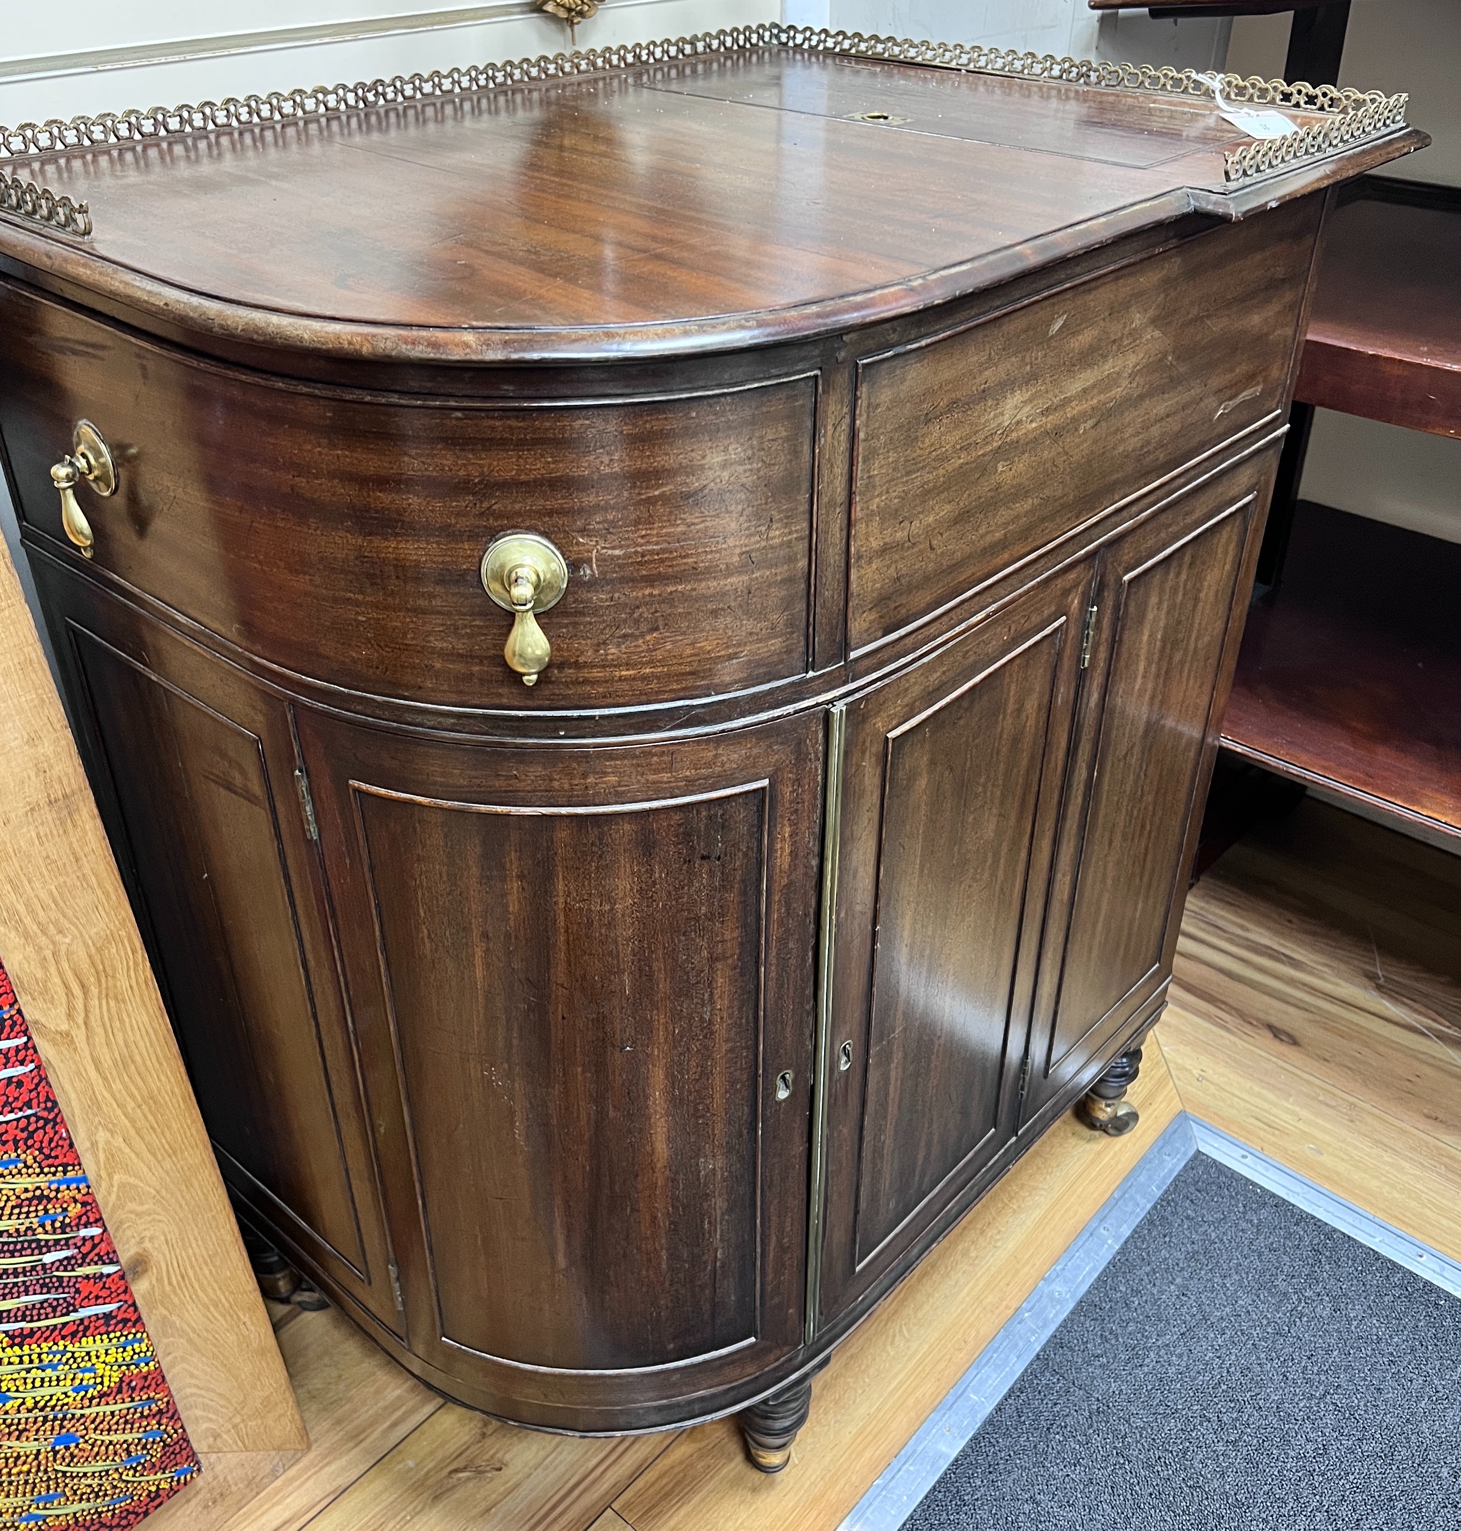
[[[907,1531],[1461,1531],[1461,1300],[1187,1160]]]

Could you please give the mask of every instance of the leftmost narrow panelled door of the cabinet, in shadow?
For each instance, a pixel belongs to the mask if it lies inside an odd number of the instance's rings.
[[[401,1329],[286,704],[35,559],[83,753],[224,1179]],[[268,1125],[265,1125],[268,1124]]]

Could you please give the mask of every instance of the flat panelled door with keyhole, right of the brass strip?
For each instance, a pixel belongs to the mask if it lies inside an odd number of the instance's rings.
[[[1052,576],[845,709],[824,1321],[1014,1136],[1090,583]]]

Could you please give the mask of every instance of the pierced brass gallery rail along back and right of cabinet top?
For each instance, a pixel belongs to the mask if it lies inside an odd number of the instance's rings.
[[[400,106],[441,96],[472,95],[501,86],[567,80],[576,75],[634,69],[643,64],[671,64],[680,60],[737,54],[755,47],[801,47],[818,54],[850,58],[879,58],[888,63],[927,64],[968,73],[1012,75],[1023,80],[1051,80],[1060,84],[1098,86],[1110,90],[1146,90],[1164,95],[1201,96],[1211,93],[1211,77],[1193,69],[1152,64],[1110,64],[1089,58],[1055,58],[1052,54],[1015,54],[999,47],[971,47],[962,43],[928,43],[913,38],[864,37],[861,32],[813,31],[763,21],[757,26],[700,32],[655,43],[620,43],[574,54],[519,58],[513,63],[470,64],[466,69],[432,70],[429,75],[397,75],[392,80],[360,81],[352,86],[315,86],[312,90],[273,90],[268,95],[228,96],[199,106],[150,107],[145,112],[103,112],[75,116],[69,122],[21,122],[0,127],[0,158],[55,155],[107,144],[135,144],[173,133],[202,133],[211,129],[248,127],[260,122],[297,122],[337,112]],[[1322,124],[1300,127],[1285,138],[1263,139],[1224,156],[1224,179],[1247,181],[1282,170],[1296,161],[1352,144],[1401,127],[1409,96],[1371,90],[1340,90],[1337,86],[1288,84],[1283,80],[1222,78],[1228,101],[1323,112]]]

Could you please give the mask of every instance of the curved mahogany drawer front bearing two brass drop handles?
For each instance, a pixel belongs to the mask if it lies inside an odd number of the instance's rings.
[[[495,406],[288,384],[132,338],[0,283],[0,430],[23,519],[92,419],[118,491],[78,499],[95,563],[250,654],[346,690],[596,707],[806,668],[810,377],[623,403]],[[551,539],[568,588],[530,690],[482,588],[499,533]]]

